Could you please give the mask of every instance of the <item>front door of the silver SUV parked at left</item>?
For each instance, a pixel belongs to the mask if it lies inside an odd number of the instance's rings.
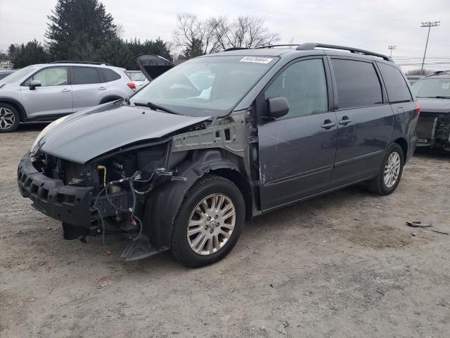
[[[40,81],[41,87],[30,90],[32,80]],[[20,87],[27,117],[55,118],[73,113],[72,86],[68,83],[68,67],[49,67],[34,73]]]

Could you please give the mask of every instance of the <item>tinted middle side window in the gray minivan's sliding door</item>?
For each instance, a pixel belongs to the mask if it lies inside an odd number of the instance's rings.
[[[340,109],[383,103],[381,85],[373,64],[364,61],[331,59],[338,87]]]

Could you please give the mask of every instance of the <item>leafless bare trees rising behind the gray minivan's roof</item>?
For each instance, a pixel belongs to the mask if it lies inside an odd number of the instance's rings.
[[[264,20],[240,16],[229,20],[225,16],[200,20],[190,13],[179,14],[174,31],[176,46],[183,49],[184,58],[210,54],[231,47],[250,48],[272,44],[280,40],[271,33]]]

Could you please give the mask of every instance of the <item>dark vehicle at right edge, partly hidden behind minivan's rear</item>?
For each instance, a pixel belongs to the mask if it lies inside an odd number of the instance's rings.
[[[450,151],[450,70],[425,76],[411,89],[421,109],[418,146]]]

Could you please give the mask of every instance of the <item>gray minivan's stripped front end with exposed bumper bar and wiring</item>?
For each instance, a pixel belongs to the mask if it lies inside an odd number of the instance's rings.
[[[122,234],[134,239],[122,258],[150,256],[148,244],[143,245],[146,252],[134,249],[148,242],[142,221],[144,195],[176,179],[166,169],[174,161],[169,158],[170,144],[162,140],[119,150],[84,165],[41,151],[34,156],[28,153],[18,166],[20,194],[31,199],[38,211],[62,222],[65,239]]]

